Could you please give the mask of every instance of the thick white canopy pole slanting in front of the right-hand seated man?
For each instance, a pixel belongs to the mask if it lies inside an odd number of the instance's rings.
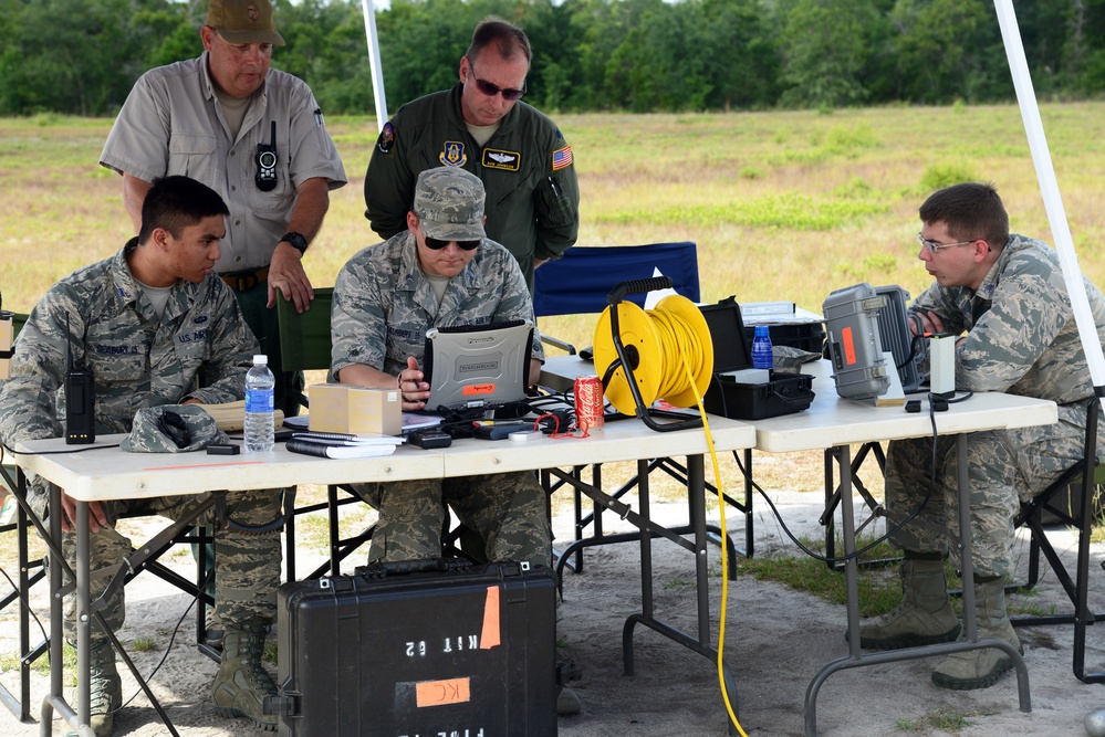
[[[1086,352],[1094,387],[1101,388],[1105,386],[1105,356],[1102,356],[1102,344],[1097,336],[1097,326],[1090,312],[1090,299],[1086,297],[1082,267],[1078,265],[1078,255],[1074,251],[1074,241],[1071,238],[1071,228],[1066,221],[1066,211],[1063,209],[1063,199],[1059,193],[1055,168],[1047,150],[1047,139],[1044,137],[1040,107],[1036,105],[1032,77],[1024,59],[1024,46],[1021,43],[1021,32],[1017,27],[1013,2],[1012,0],[994,0],[993,4],[998,11],[1001,39],[1005,46],[1005,56],[1009,60],[1009,71],[1013,75],[1017,104],[1021,108],[1024,133],[1029,137],[1029,149],[1032,151],[1032,162],[1035,165],[1036,178],[1040,180],[1044,209],[1047,211],[1055,250],[1059,252],[1059,261],[1063,267],[1066,292],[1071,298],[1071,306],[1074,308],[1074,320],[1078,326],[1078,336],[1082,338],[1082,349]]]

